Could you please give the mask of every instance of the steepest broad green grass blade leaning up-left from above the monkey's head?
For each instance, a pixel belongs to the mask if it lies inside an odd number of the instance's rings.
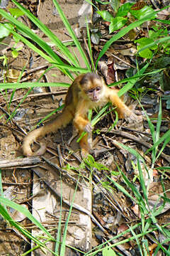
[[[84,53],[83,48],[81,47],[81,44],[79,43],[79,40],[77,39],[77,36],[75,35],[74,31],[72,30],[72,27],[69,24],[69,21],[67,21],[66,16],[64,15],[60,5],[57,3],[56,0],[53,0],[55,7],[60,15],[60,18],[62,19],[62,22],[64,23],[64,26],[67,28],[67,31],[69,32],[69,35],[72,37],[75,45],[77,46],[77,49],[79,50],[79,53],[81,54],[81,57],[84,60],[84,63],[89,71],[91,71],[91,67],[89,65],[89,60],[86,58],[86,54]]]

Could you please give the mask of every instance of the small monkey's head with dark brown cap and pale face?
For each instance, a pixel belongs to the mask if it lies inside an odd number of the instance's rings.
[[[95,73],[86,73],[80,80],[81,90],[92,102],[101,100],[103,93],[103,80]]]

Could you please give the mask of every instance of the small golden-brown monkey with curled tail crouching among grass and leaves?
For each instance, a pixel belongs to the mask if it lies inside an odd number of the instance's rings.
[[[46,150],[45,145],[40,144],[40,149],[33,152],[30,147],[31,144],[38,137],[43,137],[50,132],[56,132],[57,129],[66,127],[73,120],[74,127],[79,130],[79,135],[82,132],[87,132],[79,142],[81,155],[86,156],[91,152],[88,137],[93,130],[87,117],[89,109],[102,107],[106,103],[111,102],[114,107],[117,107],[118,117],[128,119],[128,121],[131,120],[132,122],[137,121],[137,115],[124,104],[117,93],[118,90],[108,87],[103,78],[96,73],[79,75],[69,87],[62,113],[52,122],[33,130],[25,137],[23,140],[23,154],[25,156],[40,156],[44,154]]]

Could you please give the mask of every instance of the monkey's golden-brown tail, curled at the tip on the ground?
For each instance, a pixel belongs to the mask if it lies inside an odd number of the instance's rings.
[[[33,152],[30,145],[38,139],[38,137],[45,136],[45,134],[50,134],[50,132],[56,132],[57,129],[65,127],[72,120],[72,112],[65,108],[62,113],[56,117],[50,123],[45,124],[45,126],[29,132],[28,135],[23,139],[23,154],[24,156],[40,156],[45,153],[45,144],[40,143],[40,149]]]

